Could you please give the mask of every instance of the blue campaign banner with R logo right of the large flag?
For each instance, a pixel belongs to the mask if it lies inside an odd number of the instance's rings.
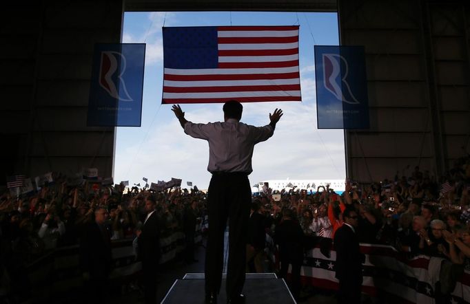
[[[315,45],[318,129],[369,129],[362,46]]]

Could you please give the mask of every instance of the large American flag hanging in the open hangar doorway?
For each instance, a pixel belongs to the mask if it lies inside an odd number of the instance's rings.
[[[162,103],[301,101],[298,26],[163,28]]]

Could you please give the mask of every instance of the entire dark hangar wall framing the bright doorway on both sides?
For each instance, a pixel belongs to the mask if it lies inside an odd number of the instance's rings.
[[[0,184],[112,175],[114,128],[86,127],[93,46],[121,41],[124,11],[151,10],[338,11],[341,44],[365,45],[371,106],[370,130],[345,131],[347,175],[440,174],[470,152],[469,1],[38,1],[1,10]]]

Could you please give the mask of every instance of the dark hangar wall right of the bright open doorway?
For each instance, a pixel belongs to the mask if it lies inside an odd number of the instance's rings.
[[[340,42],[365,45],[371,128],[345,131],[348,176],[442,175],[470,153],[469,1],[339,1]],[[409,168],[407,169],[407,166]]]

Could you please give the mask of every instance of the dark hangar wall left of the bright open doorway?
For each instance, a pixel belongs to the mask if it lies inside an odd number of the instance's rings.
[[[114,128],[86,127],[94,43],[121,41],[121,1],[18,2],[1,9],[5,175],[111,176]]]

